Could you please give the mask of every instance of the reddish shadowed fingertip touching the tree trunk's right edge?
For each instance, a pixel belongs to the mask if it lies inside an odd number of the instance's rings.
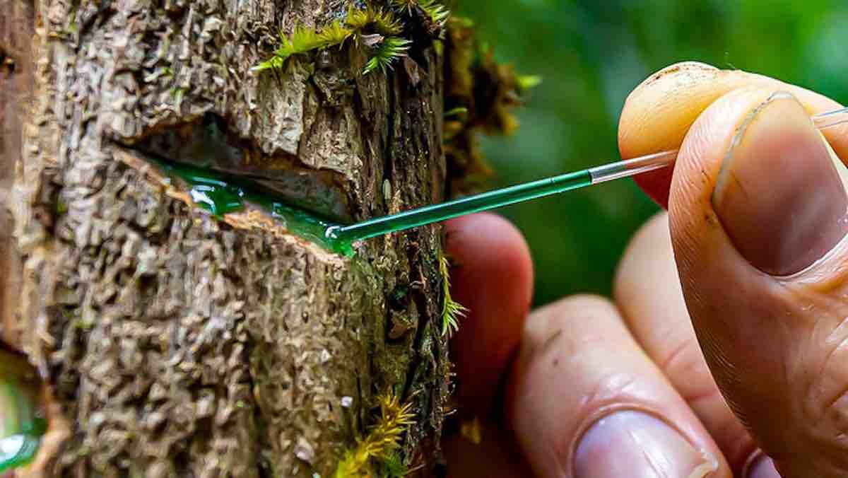
[[[449,221],[451,295],[468,312],[451,340],[463,407],[490,413],[533,297],[533,263],[522,233],[494,214]]]

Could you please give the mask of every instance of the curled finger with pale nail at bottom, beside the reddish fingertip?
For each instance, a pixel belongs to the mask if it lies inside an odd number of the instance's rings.
[[[505,398],[536,475],[729,475],[607,299],[572,296],[533,312]]]

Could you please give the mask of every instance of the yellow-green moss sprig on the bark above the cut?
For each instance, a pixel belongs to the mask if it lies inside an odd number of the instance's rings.
[[[369,58],[363,74],[375,70],[386,72],[395,60],[404,57],[410,41],[399,37],[404,25],[391,10],[380,8],[351,8],[345,20],[335,20],[321,30],[298,26],[290,36],[280,32],[279,46],[271,58],[254,66],[252,71],[282,70],[287,59],[330,48],[342,47],[348,39],[363,48]]]

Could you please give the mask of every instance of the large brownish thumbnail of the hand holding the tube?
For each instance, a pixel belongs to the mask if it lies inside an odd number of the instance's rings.
[[[754,267],[797,273],[848,232],[848,196],[834,158],[801,104],[775,93],[736,132],[713,206]]]

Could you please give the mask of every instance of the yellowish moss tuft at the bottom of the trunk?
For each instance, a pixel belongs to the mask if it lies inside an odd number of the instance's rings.
[[[379,401],[377,425],[365,438],[357,440],[354,449],[344,453],[333,475],[335,478],[371,478],[376,466],[399,459],[395,452],[400,447],[400,437],[415,423],[412,404],[401,405],[400,398],[393,393],[381,396]]]

